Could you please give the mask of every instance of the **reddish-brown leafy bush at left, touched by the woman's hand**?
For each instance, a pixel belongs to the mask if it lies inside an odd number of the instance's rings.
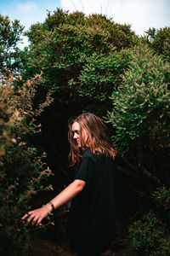
[[[40,130],[35,117],[52,101],[50,96],[33,110],[32,99],[41,76],[26,81],[15,90],[13,74],[0,85],[0,253],[26,255],[29,233],[21,217],[29,209],[31,195],[44,187],[42,180],[51,171],[31,147],[28,137]],[[21,81],[20,81],[21,83]]]

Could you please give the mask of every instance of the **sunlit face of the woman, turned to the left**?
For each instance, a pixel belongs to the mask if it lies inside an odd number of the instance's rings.
[[[88,140],[88,132],[82,128],[82,142],[80,138],[80,125],[77,122],[72,124],[73,139],[77,143],[78,147],[82,147],[82,143],[85,144]]]

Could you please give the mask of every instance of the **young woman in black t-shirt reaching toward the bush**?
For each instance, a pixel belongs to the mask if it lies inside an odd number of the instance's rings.
[[[45,206],[25,214],[27,224],[38,225],[52,210],[71,202],[68,236],[78,255],[105,252],[116,236],[116,151],[107,126],[93,113],[69,121],[69,158],[77,166],[74,181]]]

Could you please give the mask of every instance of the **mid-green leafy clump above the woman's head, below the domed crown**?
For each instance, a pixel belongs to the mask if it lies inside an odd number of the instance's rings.
[[[97,54],[89,56],[82,67],[77,90],[80,96],[90,96],[99,101],[109,101],[114,88],[120,84],[121,74],[129,63],[129,51],[122,50],[109,55]]]

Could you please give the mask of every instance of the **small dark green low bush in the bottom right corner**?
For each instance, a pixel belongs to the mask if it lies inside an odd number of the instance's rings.
[[[148,212],[129,228],[134,254],[138,256],[168,256],[170,232],[156,212]]]

